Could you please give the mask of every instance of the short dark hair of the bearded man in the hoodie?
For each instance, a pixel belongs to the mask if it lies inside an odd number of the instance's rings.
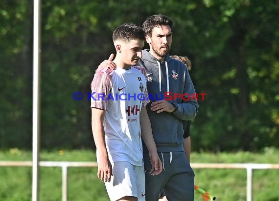
[[[154,27],[160,27],[162,25],[169,25],[170,29],[172,29],[173,21],[169,17],[162,14],[153,15],[146,18],[146,20],[142,24],[142,29],[146,35],[151,36],[152,29]]]

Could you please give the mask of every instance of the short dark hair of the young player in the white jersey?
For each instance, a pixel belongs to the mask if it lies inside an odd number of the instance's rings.
[[[145,33],[139,26],[132,23],[121,24],[116,27],[113,33],[113,40],[122,40],[129,42],[130,40],[144,40]]]

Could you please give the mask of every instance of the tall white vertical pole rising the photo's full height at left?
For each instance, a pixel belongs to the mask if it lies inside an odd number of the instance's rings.
[[[39,165],[40,144],[40,37],[41,37],[41,0],[33,1],[33,141],[32,141],[32,201],[39,200]]]

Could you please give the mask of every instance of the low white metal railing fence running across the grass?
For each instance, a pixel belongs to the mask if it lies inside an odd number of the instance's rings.
[[[0,166],[32,166],[32,161],[0,161]],[[40,161],[42,167],[62,168],[62,201],[67,201],[67,179],[68,167],[97,167],[96,162],[69,162],[69,161]],[[247,190],[246,201],[253,200],[253,170],[254,169],[279,169],[279,164],[258,164],[258,163],[191,163],[192,168],[199,169],[246,169]]]

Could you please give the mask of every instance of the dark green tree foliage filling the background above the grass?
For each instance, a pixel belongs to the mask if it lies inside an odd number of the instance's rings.
[[[171,54],[188,56],[197,93],[194,150],[279,145],[278,0],[42,1],[41,146],[93,147],[90,83],[114,53],[112,32],[165,14]],[[32,4],[0,7],[0,147],[31,147]],[[146,45],[147,47],[147,45]],[[83,93],[81,101],[72,94]]]

